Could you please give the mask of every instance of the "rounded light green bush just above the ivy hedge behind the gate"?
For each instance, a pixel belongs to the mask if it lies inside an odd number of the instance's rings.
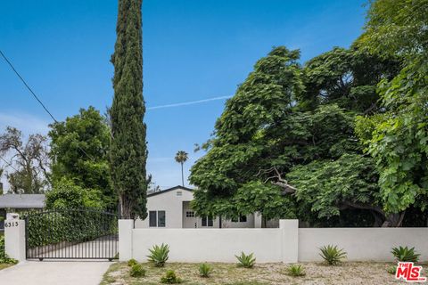
[[[47,209],[103,209],[102,193],[96,189],[83,189],[67,178],[53,184],[53,190],[46,192]]]

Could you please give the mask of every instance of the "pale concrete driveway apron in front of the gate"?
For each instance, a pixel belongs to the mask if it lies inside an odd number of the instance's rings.
[[[0,270],[2,285],[98,285],[108,261],[26,261]]]

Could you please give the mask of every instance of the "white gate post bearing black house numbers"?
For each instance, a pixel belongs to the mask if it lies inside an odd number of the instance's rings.
[[[4,251],[18,261],[25,261],[25,221],[18,214],[7,214],[4,221]]]

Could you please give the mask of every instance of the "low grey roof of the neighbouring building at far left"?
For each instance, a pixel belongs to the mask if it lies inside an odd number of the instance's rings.
[[[45,194],[0,195],[0,208],[44,208]]]

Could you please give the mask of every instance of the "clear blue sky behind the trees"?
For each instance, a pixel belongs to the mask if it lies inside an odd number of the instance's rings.
[[[193,144],[210,137],[226,96],[272,46],[299,48],[302,63],[333,46],[348,47],[361,33],[365,3],[144,0],[144,120],[154,182],[161,188],[181,183],[178,150],[190,155],[188,175],[203,154],[193,153]],[[0,49],[55,118],[89,105],[104,111],[113,96],[116,17],[112,0],[4,1]],[[25,134],[47,133],[49,116],[2,59],[0,98],[2,131],[12,125]],[[175,105],[183,102],[194,103]]]

